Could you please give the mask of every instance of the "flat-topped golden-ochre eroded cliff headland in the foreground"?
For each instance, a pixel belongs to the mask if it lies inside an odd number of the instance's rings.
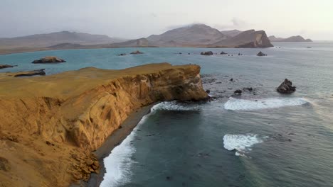
[[[206,98],[199,73],[196,65],[162,63],[24,79],[1,74],[1,185],[69,186],[88,179],[98,165],[91,151],[137,108]]]

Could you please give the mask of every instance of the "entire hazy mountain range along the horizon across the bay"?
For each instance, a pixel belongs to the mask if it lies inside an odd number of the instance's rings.
[[[273,47],[270,41],[310,42],[312,40],[305,40],[299,35],[290,38],[275,38],[275,36],[268,38],[264,30],[217,30],[204,24],[194,24],[135,40],[68,31],[0,38],[0,54],[110,47]]]

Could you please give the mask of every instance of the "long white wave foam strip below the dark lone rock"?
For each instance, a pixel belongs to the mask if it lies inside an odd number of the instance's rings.
[[[224,104],[224,108],[231,111],[250,111],[265,108],[300,106],[305,103],[308,103],[305,98],[265,98],[258,100],[246,100],[231,97],[228,102]]]

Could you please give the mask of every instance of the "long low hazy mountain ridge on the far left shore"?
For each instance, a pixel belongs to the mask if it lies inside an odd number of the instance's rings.
[[[125,40],[110,38],[107,35],[90,35],[87,33],[62,31],[58,33],[27,35],[16,38],[0,38],[0,47],[47,47],[61,43],[95,45],[122,41]]]

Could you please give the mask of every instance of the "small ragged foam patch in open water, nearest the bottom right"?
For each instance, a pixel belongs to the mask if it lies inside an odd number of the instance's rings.
[[[264,137],[265,138],[265,137]],[[228,151],[236,150],[236,156],[245,157],[245,153],[250,152],[252,147],[255,144],[261,143],[261,140],[258,135],[248,134],[248,135],[224,135],[223,145]]]

